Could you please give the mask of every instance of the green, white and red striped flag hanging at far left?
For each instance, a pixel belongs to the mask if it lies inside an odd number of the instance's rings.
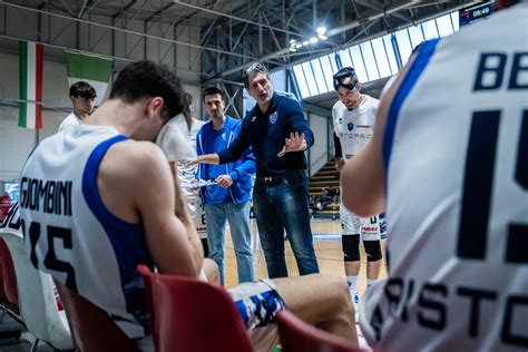
[[[18,126],[42,128],[42,52],[43,46],[19,42],[20,110]]]

